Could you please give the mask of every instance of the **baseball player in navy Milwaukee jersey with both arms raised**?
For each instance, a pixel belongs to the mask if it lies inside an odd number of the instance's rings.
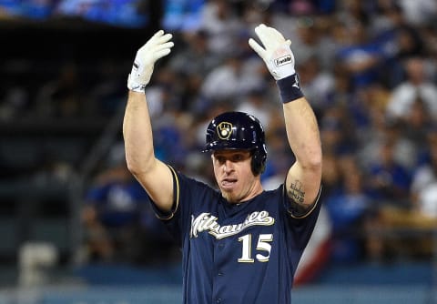
[[[184,303],[290,303],[293,275],[319,214],[319,128],[300,91],[291,42],[267,25],[255,33],[260,44],[249,39],[249,45],[277,80],[297,159],[275,190],[261,186],[264,131],[246,113],[223,113],[209,123],[204,151],[211,155],[219,190],[155,157],[144,89],[154,63],[170,53],[172,35],[153,35],[137,51],[128,76],[127,166],[182,248]]]

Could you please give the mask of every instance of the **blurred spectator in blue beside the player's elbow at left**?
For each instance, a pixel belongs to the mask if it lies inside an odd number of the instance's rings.
[[[139,212],[147,196],[129,174],[126,161],[112,158],[86,190],[82,220],[86,259],[91,262],[132,261],[137,254]]]

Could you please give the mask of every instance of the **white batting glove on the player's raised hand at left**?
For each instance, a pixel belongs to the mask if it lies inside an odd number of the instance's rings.
[[[138,49],[132,71],[127,77],[127,88],[129,90],[144,93],[152,76],[155,62],[163,56],[168,56],[171,47],[174,46],[173,42],[170,41],[171,38],[171,34],[164,34],[163,30],[159,30],[148,39],[144,46]]]

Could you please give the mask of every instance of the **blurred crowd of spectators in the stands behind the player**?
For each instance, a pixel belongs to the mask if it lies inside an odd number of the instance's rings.
[[[208,120],[224,110],[245,111],[266,129],[264,187],[283,181],[294,158],[278,90],[248,45],[256,25],[274,26],[292,41],[302,90],[320,125],[330,259],[430,258],[429,232],[437,226],[437,3],[198,3],[195,13],[167,25],[175,47],[158,62],[147,86],[157,157],[214,185],[210,160],[199,152]],[[16,111],[41,117],[114,115],[126,102],[130,64],[131,58],[118,66],[102,62],[92,90],[74,65],[60,67],[32,101],[11,86],[0,119]],[[120,159],[107,161],[87,189],[86,257],[144,262],[174,255]],[[158,254],[151,257],[153,252]]]

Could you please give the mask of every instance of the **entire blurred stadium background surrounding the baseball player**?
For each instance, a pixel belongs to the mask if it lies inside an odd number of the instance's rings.
[[[0,0],[0,303],[180,303],[180,251],[127,171],[127,74],[174,34],[147,100],[158,158],[214,186],[208,120],[267,133],[265,188],[294,161],[248,46],[292,40],[320,124],[322,210],[294,303],[437,303],[435,0]]]

